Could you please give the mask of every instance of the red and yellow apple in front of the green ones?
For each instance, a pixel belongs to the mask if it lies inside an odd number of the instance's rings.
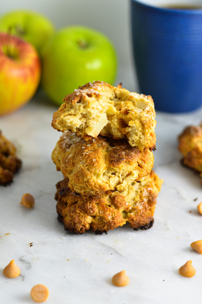
[[[0,33],[0,116],[20,108],[36,92],[39,55],[29,43]]]

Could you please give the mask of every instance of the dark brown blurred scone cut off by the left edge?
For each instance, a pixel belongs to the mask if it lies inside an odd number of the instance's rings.
[[[16,148],[0,131],[0,185],[13,180],[13,174],[21,167],[21,161],[15,156]]]

